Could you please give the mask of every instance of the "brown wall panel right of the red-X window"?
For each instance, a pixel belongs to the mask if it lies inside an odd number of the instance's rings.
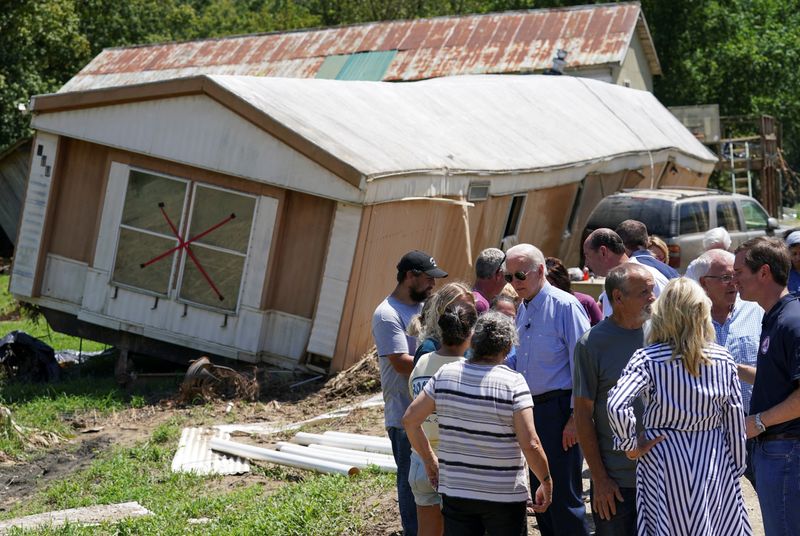
[[[280,232],[272,248],[267,308],[313,318],[322,284],[336,203],[287,192]],[[279,209],[280,210],[280,209]]]

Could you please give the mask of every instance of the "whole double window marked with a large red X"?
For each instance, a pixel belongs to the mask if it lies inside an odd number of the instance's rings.
[[[254,196],[131,170],[112,281],[235,311]]]

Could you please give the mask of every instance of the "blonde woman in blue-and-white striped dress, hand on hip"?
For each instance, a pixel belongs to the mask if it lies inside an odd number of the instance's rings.
[[[739,479],[745,426],[736,363],[714,342],[711,302],[694,281],[670,281],[653,306],[649,346],[609,392],[615,447],[638,459],[637,531],[750,535]],[[632,402],[642,399],[637,436]]]

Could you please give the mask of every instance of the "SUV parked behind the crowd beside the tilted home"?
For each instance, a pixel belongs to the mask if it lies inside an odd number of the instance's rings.
[[[623,190],[612,194],[595,207],[583,232],[601,227],[616,229],[625,220],[639,220],[651,235],[669,247],[669,264],[681,272],[703,253],[703,235],[714,227],[725,227],[731,235],[731,248],[778,228],[761,204],[752,197],[718,190],[682,188]],[[583,241],[581,241],[583,243]]]

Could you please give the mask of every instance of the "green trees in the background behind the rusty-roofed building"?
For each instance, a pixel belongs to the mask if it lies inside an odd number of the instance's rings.
[[[56,90],[105,47],[589,0],[17,0],[0,10],[0,151],[27,132],[16,105]],[[642,0],[667,105],[771,114],[800,167],[800,2]]]

